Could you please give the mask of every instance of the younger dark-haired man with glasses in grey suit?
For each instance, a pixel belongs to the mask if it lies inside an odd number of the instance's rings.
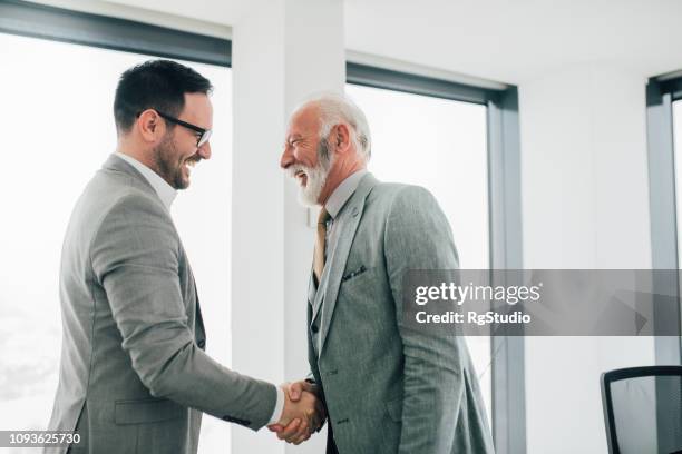
[[[167,60],[118,83],[117,151],[76,204],[61,257],[64,344],[49,428],[80,434],[72,453],[195,453],[202,412],[254,431],[318,424],[312,394],[291,402],[204,352],[170,204],[211,158],[210,91],[207,79]]]

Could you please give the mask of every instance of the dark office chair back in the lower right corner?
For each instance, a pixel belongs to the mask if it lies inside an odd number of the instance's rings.
[[[682,454],[682,366],[602,374],[611,454]]]

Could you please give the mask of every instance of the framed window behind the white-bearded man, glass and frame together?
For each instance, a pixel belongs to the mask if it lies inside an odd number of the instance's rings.
[[[347,63],[347,82],[372,131],[370,170],[435,195],[460,266],[523,268],[516,87],[477,87],[353,61]],[[496,452],[525,452],[523,336],[471,336],[467,344]]]

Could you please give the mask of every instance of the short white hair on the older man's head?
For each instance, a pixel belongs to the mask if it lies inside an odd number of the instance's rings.
[[[368,161],[372,155],[372,138],[364,112],[347,95],[324,92],[313,95],[301,105],[301,108],[315,105],[320,108],[320,138],[327,139],[332,128],[340,124],[351,127],[351,140],[360,156]]]

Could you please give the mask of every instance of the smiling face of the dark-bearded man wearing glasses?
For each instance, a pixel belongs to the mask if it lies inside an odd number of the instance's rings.
[[[185,108],[178,119],[212,129],[213,105],[204,93],[185,93]],[[155,170],[175,189],[186,189],[189,186],[192,168],[202,159],[211,158],[211,142],[197,148],[198,132],[170,121],[167,121],[167,125],[166,134],[154,147]]]

